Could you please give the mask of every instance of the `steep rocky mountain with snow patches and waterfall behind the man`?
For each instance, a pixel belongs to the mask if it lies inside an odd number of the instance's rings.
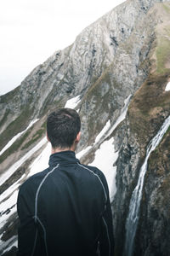
[[[170,2],[127,0],[0,96],[0,252],[20,184],[48,165],[47,114],[77,109],[77,157],[109,183],[115,255],[170,255]],[[41,169],[41,170],[40,170]]]

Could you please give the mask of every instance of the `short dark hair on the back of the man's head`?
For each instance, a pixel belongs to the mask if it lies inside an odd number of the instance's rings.
[[[81,129],[76,110],[58,108],[48,115],[47,133],[53,148],[70,148]]]

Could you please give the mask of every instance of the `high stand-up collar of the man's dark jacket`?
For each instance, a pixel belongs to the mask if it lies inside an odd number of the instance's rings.
[[[48,164],[49,166],[57,166],[57,164],[70,165],[78,162],[75,152],[68,150],[51,154]]]

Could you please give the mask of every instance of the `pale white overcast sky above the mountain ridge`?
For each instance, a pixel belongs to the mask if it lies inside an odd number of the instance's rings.
[[[0,95],[125,0],[1,0]]]

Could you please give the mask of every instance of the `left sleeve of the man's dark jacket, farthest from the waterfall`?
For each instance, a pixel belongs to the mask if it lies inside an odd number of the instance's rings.
[[[37,255],[39,237],[31,207],[33,207],[33,202],[30,196],[26,194],[26,189],[20,189],[17,201],[17,211],[20,218],[18,256]]]

